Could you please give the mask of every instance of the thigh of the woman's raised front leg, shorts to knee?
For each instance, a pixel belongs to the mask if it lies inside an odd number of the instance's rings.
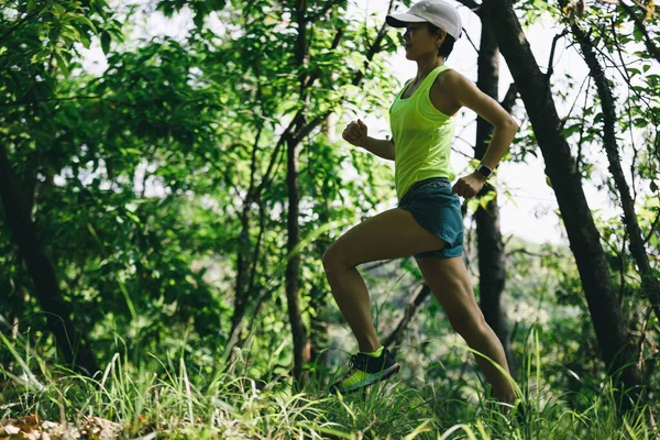
[[[398,258],[442,249],[433,235],[406,210],[394,208],[374,216],[341,235],[323,254],[323,265],[353,267],[362,263]]]

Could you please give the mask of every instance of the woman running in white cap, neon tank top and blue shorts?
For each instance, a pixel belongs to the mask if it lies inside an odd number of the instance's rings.
[[[331,386],[331,393],[350,393],[384,380],[399,370],[384,349],[372,322],[369,293],[359,264],[414,255],[426,283],[443,307],[452,328],[475,351],[508,372],[504,349],[476,305],[461,257],[463,222],[461,197],[483,187],[514,140],[518,124],[491,97],[444,65],[461,35],[457,10],[442,0],[421,0],[407,13],[387,15],[395,28],[406,28],[406,58],[417,63],[417,76],[395,98],[391,109],[393,140],[367,136],[361,121],[346,125],[349,143],[395,161],[398,207],[349,230],[323,254],[323,267],[341,312],[351,326],[360,353],[350,371]],[[450,165],[454,117],[462,107],[495,125],[481,165],[459,178]],[[501,402],[516,398],[513,384],[495,365],[476,356]]]

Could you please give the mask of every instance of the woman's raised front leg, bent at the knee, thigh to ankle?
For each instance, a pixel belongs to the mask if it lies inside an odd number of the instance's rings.
[[[395,208],[363,221],[323,254],[334,300],[351,326],[362,352],[381,346],[370,312],[369,292],[356,265],[442,249],[446,243],[421,228],[413,215]]]

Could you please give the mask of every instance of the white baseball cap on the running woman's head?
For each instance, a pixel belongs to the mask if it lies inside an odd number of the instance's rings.
[[[408,23],[429,22],[442,28],[455,40],[459,40],[463,30],[459,11],[443,0],[420,0],[408,12],[387,15],[385,21],[393,28],[406,28]]]

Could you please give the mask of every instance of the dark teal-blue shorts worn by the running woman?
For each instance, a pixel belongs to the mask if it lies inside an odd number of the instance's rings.
[[[451,258],[463,253],[463,216],[459,196],[451,194],[451,184],[446,177],[433,177],[414,184],[398,208],[405,209],[427,231],[448,244],[438,251],[415,256]]]

